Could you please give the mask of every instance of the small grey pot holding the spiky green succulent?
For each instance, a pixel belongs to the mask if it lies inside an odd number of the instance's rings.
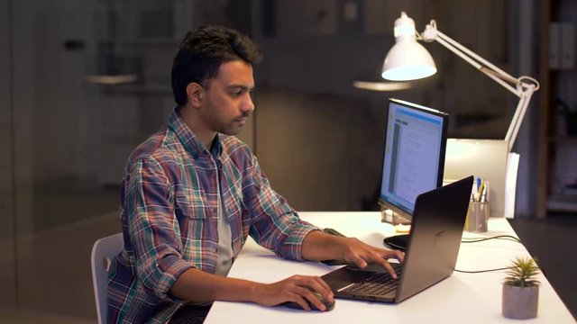
[[[539,286],[514,287],[503,284],[503,316],[508,319],[527,320],[537,317]]]

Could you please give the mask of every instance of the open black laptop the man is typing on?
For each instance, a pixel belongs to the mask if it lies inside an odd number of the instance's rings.
[[[343,266],[321,276],[334,297],[371,302],[402,302],[451,275],[457,262],[473,176],[417,196],[407,252],[398,279],[379,265]]]

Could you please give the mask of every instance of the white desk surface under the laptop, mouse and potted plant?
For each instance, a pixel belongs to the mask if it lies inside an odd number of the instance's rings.
[[[380,222],[379,212],[301,212],[301,219],[318,227],[331,227],[344,235],[361,238],[382,247],[382,238],[394,235],[391,225]],[[465,238],[515,235],[508,221],[490,219],[489,231],[481,234],[464,233]],[[461,245],[456,268],[482,270],[508,266],[517,256],[528,256],[520,244],[503,239]],[[317,262],[294,262],[274,256],[247,241],[234,262],[229,276],[273,283],[290,275],[325,275],[338,266]],[[546,269],[545,269],[546,270]],[[264,307],[248,302],[215,302],[206,324],[222,323],[520,323],[501,315],[501,283],[504,271],[484,274],[454,272],[439,284],[417,293],[405,302],[390,305],[377,302],[357,302],[336,299],[333,311],[306,312],[283,307]],[[535,320],[527,323],[575,323],[571,313],[543,275],[539,277],[539,311]],[[369,320],[369,321],[366,321]]]

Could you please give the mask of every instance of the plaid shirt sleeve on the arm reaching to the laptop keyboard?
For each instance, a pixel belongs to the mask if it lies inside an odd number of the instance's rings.
[[[297,211],[272,190],[256,157],[251,156],[252,164],[247,168],[248,181],[243,186],[243,196],[252,217],[250,235],[262,247],[280,257],[303,261],[303,240],[318,228],[298,218]]]

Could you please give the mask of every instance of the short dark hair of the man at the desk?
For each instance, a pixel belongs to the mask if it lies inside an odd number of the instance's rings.
[[[203,26],[188,31],[172,63],[172,93],[179,105],[187,103],[187,85],[216,76],[218,67],[233,60],[259,63],[261,49],[246,35],[221,26]]]

